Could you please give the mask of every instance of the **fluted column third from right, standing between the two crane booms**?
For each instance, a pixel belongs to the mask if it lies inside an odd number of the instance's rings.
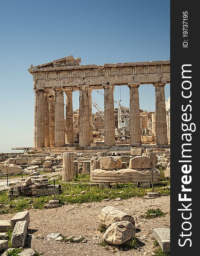
[[[104,145],[115,145],[115,114],[113,85],[102,84],[104,88]]]

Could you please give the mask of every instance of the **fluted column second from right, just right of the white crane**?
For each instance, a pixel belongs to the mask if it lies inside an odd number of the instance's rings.
[[[139,86],[138,83],[130,83],[130,145],[142,145],[141,141],[141,125],[140,125],[140,111],[139,111]]]

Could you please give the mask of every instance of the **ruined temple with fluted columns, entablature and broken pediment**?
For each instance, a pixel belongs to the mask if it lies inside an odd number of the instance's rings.
[[[74,143],[72,92],[75,90],[79,90],[79,147],[90,146],[93,142],[91,93],[99,89],[104,89],[104,145],[116,145],[113,91],[118,85],[130,88],[130,145],[142,144],[139,109],[139,86],[142,84],[155,87],[156,142],[157,145],[168,144],[165,84],[170,83],[170,61],[102,66],[80,63],[81,58],[71,55],[35,67],[31,65],[28,69],[35,91],[35,150],[56,150]]]

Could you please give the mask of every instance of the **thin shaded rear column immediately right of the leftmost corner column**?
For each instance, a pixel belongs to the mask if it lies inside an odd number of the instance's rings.
[[[44,147],[50,146],[49,141],[49,95],[44,93]]]

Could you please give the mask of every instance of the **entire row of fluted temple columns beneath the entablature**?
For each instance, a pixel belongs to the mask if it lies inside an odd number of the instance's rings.
[[[165,110],[165,84],[155,83],[157,145],[168,144]],[[130,145],[141,145],[139,83],[128,83],[130,88]],[[104,144],[115,145],[114,85],[102,84],[104,88]],[[54,96],[43,89],[35,92],[34,147],[64,147],[73,143],[72,89],[56,87]],[[64,91],[66,93],[66,118],[64,118]],[[93,142],[92,90],[79,87],[79,146]]]

